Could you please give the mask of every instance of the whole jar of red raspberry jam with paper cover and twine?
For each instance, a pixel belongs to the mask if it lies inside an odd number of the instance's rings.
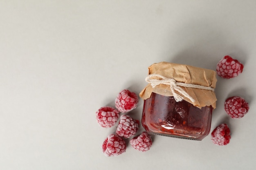
[[[144,99],[141,124],[152,134],[202,140],[216,108],[216,72],[161,62],[151,65],[139,94]]]

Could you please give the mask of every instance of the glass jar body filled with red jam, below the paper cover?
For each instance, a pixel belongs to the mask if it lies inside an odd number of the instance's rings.
[[[202,140],[211,129],[211,106],[201,109],[182,100],[176,102],[173,96],[151,93],[144,100],[141,124],[152,134]]]

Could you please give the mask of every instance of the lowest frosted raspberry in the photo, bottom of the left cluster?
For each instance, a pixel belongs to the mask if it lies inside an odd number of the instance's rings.
[[[107,157],[117,156],[126,151],[126,143],[121,137],[111,134],[103,142],[102,150]]]

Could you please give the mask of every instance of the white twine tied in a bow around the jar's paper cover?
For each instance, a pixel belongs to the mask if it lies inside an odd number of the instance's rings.
[[[161,79],[152,79],[152,77],[159,77]],[[176,102],[180,102],[180,101],[183,100],[184,97],[182,97],[181,95],[190,99],[191,102],[195,102],[195,100],[188,93],[186,93],[180,86],[214,91],[214,88],[211,88],[211,87],[200,86],[200,85],[197,85],[197,84],[180,83],[180,82],[176,82],[176,80],[173,79],[173,78],[167,78],[167,77],[164,77],[164,76],[159,75],[159,74],[150,74],[146,77],[145,80],[146,80],[146,82],[150,83],[153,88],[155,88],[155,86],[157,86],[159,84],[169,85],[170,89],[171,89],[171,92],[173,93],[173,97],[174,97]],[[179,92],[181,95],[175,93],[175,91]]]

